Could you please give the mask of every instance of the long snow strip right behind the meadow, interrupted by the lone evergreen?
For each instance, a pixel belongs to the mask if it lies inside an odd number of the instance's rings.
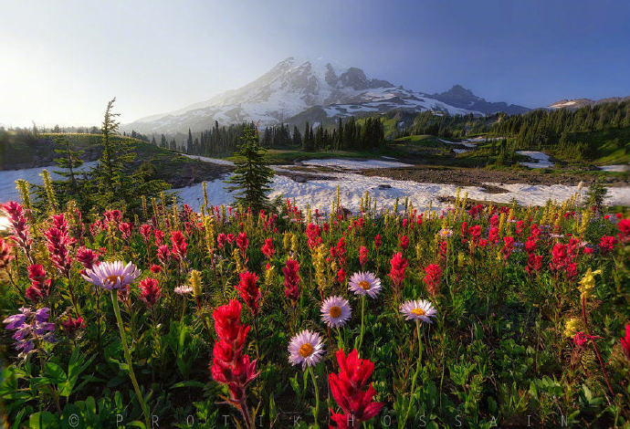
[[[311,180],[307,183],[298,183],[289,177],[277,175],[271,185],[269,194],[275,198],[282,194],[283,198],[295,200],[299,205],[310,204],[311,207],[327,211],[331,201],[336,197],[337,186],[340,187],[341,204],[357,212],[360,208],[360,200],[368,191],[377,201],[377,210],[386,207],[394,207],[396,198],[404,201],[405,197],[415,207],[424,210],[429,202],[433,202],[436,210],[445,209],[448,204],[437,201],[438,196],[455,196],[457,185],[444,183],[417,183],[412,181],[399,181],[384,177],[363,176],[357,173],[328,173],[331,180]],[[222,179],[207,183],[208,202],[213,205],[229,204],[231,195],[223,188],[226,184]],[[567,200],[572,194],[578,192],[577,186],[563,184],[554,185],[530,185],[527,183],[502,184],[487,183],[502,187],[509,191],[505,194],[488,194],[479,186],[462,186],[461,194],[468,193],[468,198],[475,200],[493,201],[496,203],[509,203],[515,198],[523,205],[544,205],[548,199],[558,202]],[[199,210],[203,201],[201,183],[178,189],[182,192],[184,203],[189,204],[194,210]],[[630,187],[608,188],[607,204],[630,205]]]

